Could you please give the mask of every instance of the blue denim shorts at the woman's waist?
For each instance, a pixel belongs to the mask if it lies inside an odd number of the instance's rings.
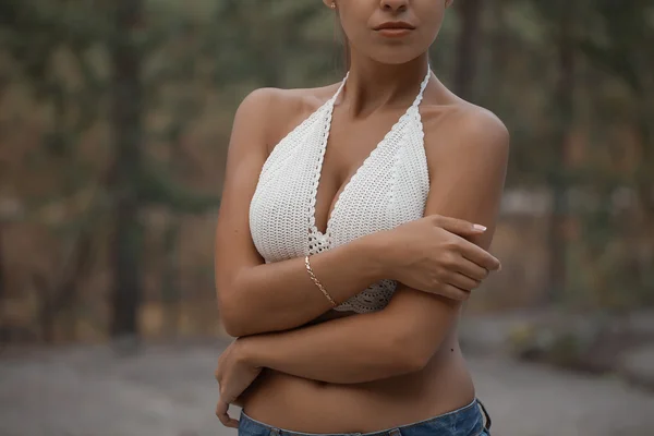
[[[491,416],[475,399],[470,404],[425,421],[373,433],[343,433],[329,436],[489,436]],[[261,423],[241,412],[239,436],[326,436],[291,432]]]

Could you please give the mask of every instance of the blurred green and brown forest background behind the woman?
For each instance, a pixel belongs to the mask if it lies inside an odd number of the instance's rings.
[[[234,110],[340,80],[340,39],[319,0],[1,0],[2,342],[219,335]],[[647,0],[455,2],[433,68],[512,137],[470,313],[652,307],[652,47]]]

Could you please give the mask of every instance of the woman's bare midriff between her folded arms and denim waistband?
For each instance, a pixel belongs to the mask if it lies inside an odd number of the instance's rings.
[[[346,314],[330,313],[325,320]],[[392,353],[393,350],[388,350]],[[240,398],[245,413],[303,433],[370,433],[427,420],[474,400],[456,331],[420,372],[335,385],[265,370]]]

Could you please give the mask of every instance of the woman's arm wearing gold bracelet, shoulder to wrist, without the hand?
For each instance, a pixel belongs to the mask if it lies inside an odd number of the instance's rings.
[[[274,131],[283,130],[298,111],[296,98],[284,93],[263,88],[249,95],[232,129],[216,231],[216,289],[220,319],[234,337],[299,327],[331,308],[302,258],[265,264],[250,234],[250,201],[268,155],[266,144],[280,140]],[[257,129],[252,129],[253,120]],[[388,251],[379,239],[364,237],[312,256],[312,266],[340,302],[390,278],[384,277],[388,265],[383,252]]]

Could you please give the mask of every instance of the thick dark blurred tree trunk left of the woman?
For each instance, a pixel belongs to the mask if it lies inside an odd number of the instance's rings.
[[[142,171],[141,53],[134,33],[141,25],[143,0],[114,2],[116,35],[111,45],[113,65],[112,125],[116,160],[111,174],[114,194],[113,292],[111,336],[137,337],[142,302],[142,229],[138,223],[138,190]]]

